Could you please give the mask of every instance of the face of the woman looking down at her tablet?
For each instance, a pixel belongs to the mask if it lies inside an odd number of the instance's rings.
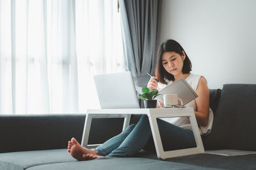
[[[183,61],[186,58],[185,52],[183,56],[176,52],[164,52],[162,56],[162,64],[166,72],[171,73],[173,76],[182,73]]]

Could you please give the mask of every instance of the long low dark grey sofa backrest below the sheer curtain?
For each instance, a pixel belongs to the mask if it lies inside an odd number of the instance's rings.
[[[0,146],[4,146],[0,147],[0,153],[67,148],[72,137],[81,143],[85,117],[85,114],[0,115]],[[123,123],[124,118],[93,119],[88,144],[104,143],[119,134]]]

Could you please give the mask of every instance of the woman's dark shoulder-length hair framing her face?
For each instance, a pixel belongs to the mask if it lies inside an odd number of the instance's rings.
[[[175,40],[166,40],[166,42],[162,43],[159,47],[158,54],[157,54],[157,63],[156,63],[156,77],[159,80],[159,82],[163,84],[167,84],[168,81],[173,81],[174,76],[171,73],[168,73],[163,66],[162,63],[162,56],[164,52],[176,52],[180,54],[180,56],[183,56],[182,51],[185,52],[185,50],[181,47],[181,45],[176,42]],[[186,52],[185,52],[186,54]],[[188,55],[186,54],[186,58],[183,61],[183,67],[182,67],[182,73],[190,73],[192,64],[190,59],[188,58]]]

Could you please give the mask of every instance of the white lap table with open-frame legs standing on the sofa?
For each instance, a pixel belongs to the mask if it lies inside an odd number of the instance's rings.
[[[157,157],[161,159],[180,157],[183,155],[192,155],[196,153],[204,153],[204,146],[198,129],[195,118],[195,112],[192,107],[185,108],[166,108],[166,109],[88,109],[86,112],[86,120],[84,123],[84,131],[81,145],[84,147],[88,145],[88,137],[93,118],[125,118],[123,130],[129,126],[131,114],[147,114],[150,127],[156,146]],[[172,118],[172,117],[189,117],[193,128],[196,147],[186,148],[182,150],[164,151],[159,128],[157,125],[157,118]]]

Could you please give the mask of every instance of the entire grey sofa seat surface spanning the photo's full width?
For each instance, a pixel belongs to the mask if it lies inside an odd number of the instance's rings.
[[[143,157],[138,157],[143,156]],[[207,153],[159,160],[156,154],[77,161],[66,149],[0,153],[1,170],[40,169],[255,169],[256,154],[225,157]]]

